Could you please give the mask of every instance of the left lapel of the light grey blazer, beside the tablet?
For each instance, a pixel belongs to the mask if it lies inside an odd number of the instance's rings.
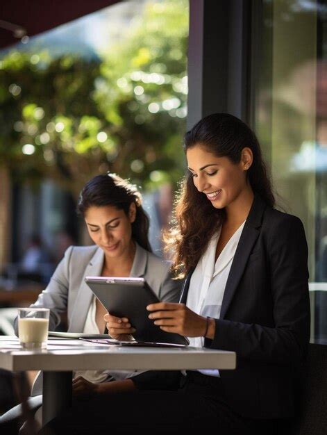
[[[90,304],[93,297],[92,290],[89,286],[87,286],[84,278],[99,277],[101,275],[103,258],[103,250],[101,248],[98,248],[92,259],[90,260],[90,263],[88,263],[87,267],[85,268],[83,281],[81,282],[81,287],[78,290],[74,311],[72,313],[72,318],[69,322],[68,332],[82,332],[84,329],[87,312],[90,309]]]

